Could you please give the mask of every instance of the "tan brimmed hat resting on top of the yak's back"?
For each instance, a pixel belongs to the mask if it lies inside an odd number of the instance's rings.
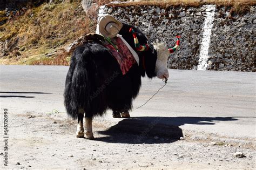
[[[116,37],[123,24],[110,15],[102,17],[99,21],[99,32],[104,37]]]

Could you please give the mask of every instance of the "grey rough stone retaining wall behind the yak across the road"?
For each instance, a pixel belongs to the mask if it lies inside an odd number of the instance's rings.
[[[214,9],[206,69],[255,71],[255,6],[240,16],[230,11],[227,7]],[[169,47],[175,44],[175,36],[181,35],[180,49],[170,56],[168,66],[197,70],[204,22],[211,12],[206,6],[102,6],[99,12],[137,26],[148,38]]]

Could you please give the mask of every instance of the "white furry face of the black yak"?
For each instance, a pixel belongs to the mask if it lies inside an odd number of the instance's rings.
[[[157,51],[156,74],[160,79],[169,78],[167,70],[167,60],[169,57],[168,48],[163,43],[154,43],[154,49]]]

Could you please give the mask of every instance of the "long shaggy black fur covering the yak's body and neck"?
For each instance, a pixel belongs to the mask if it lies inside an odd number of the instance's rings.
[[[136,51],[132,33],[137,33],[140,44],[147,38],[134,26],[123,24],[119,34]],[[107,109],[122,112],[131,110],[132,100],[137,97],[142,84],[141,77],[155,77],[157,52],[151,44],[150,49],[138,53],[140,64],[134,64],[129,72],[122,74],[120,67],[107,49],[97,43],[88,42],[78,46],[73,52],[70,68],[66,76],[64,104],[68,115],[73,119],[85,112],[85,117],[103,115]],[[145,57],[145,68],[143,67]]]

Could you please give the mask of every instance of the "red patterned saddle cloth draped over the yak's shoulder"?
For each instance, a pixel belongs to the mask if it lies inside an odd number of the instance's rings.
[[[114,37],[111,38],[111,41],[116,45],[117,50],[111,44],[104,44],[104,46],[109,50],[111,55],[117,59],[120,69],[124,75],[131,69],[132,65],[136,63],[136,60],[122,39]]]

